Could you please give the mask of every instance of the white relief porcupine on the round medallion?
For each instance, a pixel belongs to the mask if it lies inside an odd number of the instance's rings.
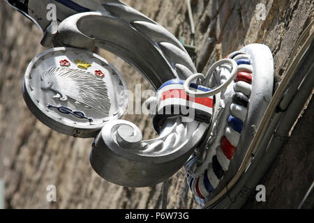
[[[100,77],[91,72],[71,68],[49,68],[41,75],[41,89],[57,93],[54,98],[68,100],[75,104],[109,115],[110,99],[107,86]]]

